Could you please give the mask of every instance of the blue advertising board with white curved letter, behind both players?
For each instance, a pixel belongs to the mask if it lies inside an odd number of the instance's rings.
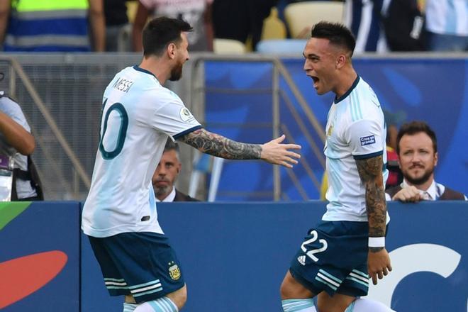
[[[185,311],[282,311],[279,285],[306,232],[325,211],[302,203],[172,203],[160,223],[182,262]],[[399,312],[467,308],[466,202],[390,203],[387,236],[393,272],[369,297]],[[87,243],[86,240],[83,240]],[[83,267],[82,311],[118,311],[91,250]],[[372,283],[371,283],[372,284]]]

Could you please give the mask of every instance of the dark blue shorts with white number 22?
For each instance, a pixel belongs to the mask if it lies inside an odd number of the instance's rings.
[[[367,222],[321,221],[308,231],[289,272],[313,294],[366,296],[368,235]]]

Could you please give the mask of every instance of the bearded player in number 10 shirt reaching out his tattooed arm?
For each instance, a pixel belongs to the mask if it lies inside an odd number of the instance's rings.
[[[157,220],[151,178],[167,139],[231,160],[265,160],[292,167],[300,155],[284,135],[268,143],[239,143],[210,133],[162,87],[182,76],[189,60],[189,23],[155,18],[143,30],[143,60],[116,74],[104,91],[101,140],[82,229],[111,296],[125,312],[177,312],[186,301],[180,262]]]

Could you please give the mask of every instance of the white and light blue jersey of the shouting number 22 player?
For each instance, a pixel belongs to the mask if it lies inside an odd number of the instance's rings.
[[[366,190],[356,160],[382,155],[386,163],[384,113],[369,84],[357,77],[350,90],[335,99],[325,130],[329,203],[322,219],[367,221]],[[383,174],[385,184],[388,171]]]

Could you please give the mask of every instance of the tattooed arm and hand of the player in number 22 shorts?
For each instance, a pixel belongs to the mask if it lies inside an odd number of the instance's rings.
[[[382,176],[382,157],[356,160],[357,171],[366,189],[366,210],[369,219],[369,238],[383,238],[386,227],[386,202],[384,177]],[[388,252],[385,247],[369,247],[367,269],[372,282],[377,284],[377,277],[382,279],[391,271]]]

